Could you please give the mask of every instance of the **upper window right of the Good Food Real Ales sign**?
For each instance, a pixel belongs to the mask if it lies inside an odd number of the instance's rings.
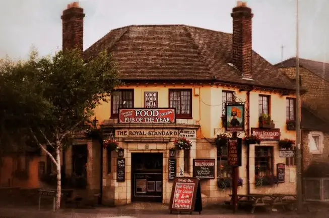
[[[192,118],[192,89],[169,89],[169,106],[176,108],[176,118]]]

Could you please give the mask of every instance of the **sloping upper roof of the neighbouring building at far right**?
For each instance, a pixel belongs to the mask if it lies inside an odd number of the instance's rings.
[[[283,61],[282,63],[280,62],[275,64],[274,66],[276,66],[277,68],[295,67],[296,58],[289,58]],[[299,58],[299,66],[311,71],[312,73],[329,82],[329,63]]]

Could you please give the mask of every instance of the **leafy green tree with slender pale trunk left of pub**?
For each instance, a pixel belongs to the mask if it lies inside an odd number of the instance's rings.
[[[1,125],[7,132],[24,133],[20,136],[29,133],[56,166],[56,209],[61,196],[60,151],[70,145],[70,133],[89,122],[94,108],[107,102],[119,84],[116,63],[105,51],[87,64],[77,50],[42,58],[32,51],[28,61],[0,61]],[[56,154],[52,156],[45,145]]]

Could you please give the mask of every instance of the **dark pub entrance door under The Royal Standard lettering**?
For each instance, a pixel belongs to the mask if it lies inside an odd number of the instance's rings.
[[[162,153],[131,153],[131,200],[162,202]]]

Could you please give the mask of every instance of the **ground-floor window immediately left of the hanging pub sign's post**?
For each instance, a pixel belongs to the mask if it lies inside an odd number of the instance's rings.
[[[217,147],[217,178],[231,178],[231,169],[227,166],[227,146]]]

